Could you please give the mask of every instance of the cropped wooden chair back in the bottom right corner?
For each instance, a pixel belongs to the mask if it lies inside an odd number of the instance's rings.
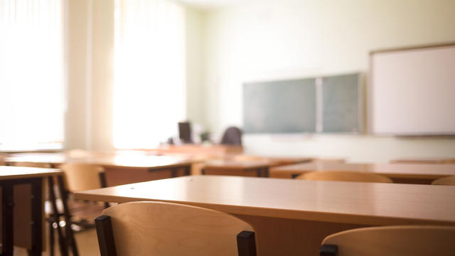
[[[320,256],[454,255],[455,227],[390,226],[357,228],[326,237]]]

